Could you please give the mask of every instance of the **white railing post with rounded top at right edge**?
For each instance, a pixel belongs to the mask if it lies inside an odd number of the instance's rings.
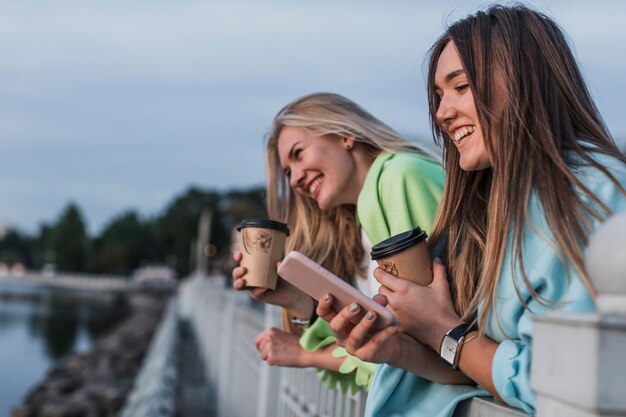
[[[597,313],[535,319],[537,417],[626,416],[626,212],[594,233],[585,260]]]

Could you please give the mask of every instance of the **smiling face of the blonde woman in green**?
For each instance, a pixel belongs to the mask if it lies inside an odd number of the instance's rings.
[[[291,188],[327,210],[356,204],[362,184],[353,146],[353,139],[315,136],[285,126],[278,137],[278,157]]]

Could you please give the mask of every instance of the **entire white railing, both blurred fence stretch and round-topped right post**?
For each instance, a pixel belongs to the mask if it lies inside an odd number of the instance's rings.
[[[586,261],[598,289],[598,312],[535,320],[537,417],[626,416],[626,213],[596,232]],[[254,306],[246,293],[202,276],[181,285],[180,299],[181,316],[200,344],[216,417],[362,416],[364,392],[342,395],[328,390],[314,370],[271,367],[259,359],[254,337],[280,326],[277,309]],[[454,416],[527,415],[475,398]]]

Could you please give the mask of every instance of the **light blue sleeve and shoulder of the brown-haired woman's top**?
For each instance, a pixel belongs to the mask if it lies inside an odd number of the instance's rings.
[[[605,166],[607,165],[609,163]],[[626,184],[623,164],[615,164],[612,168],[615,168],[612,172],[623,187]],[[626,196],[600,171],[590,168],[581,173],[581,180],[613,212],[626,210]],[[588,197],[582,198],[585,203],[594,205]],[[493,320],[489,322],[488,331],[491,333],[488,334],[490,337],[500,342],[492,365],[492,379],[496,391],[505,402],[528,413],[532,413],[535,407],[535,394],[530,383],[533,317],[551,311],[595,310],[594,301],[581,278],[569,263],[563,263],[555,251],[554,238],[542,213],[536,200],[531,200],[529,219],[535,228],[527,226],[525,229],[523,262],[531,287],[544,302],[531,297],[521,282],[517,285],[519,294],[515,290],[511,277],[519,276],[519,273],[512,272],[511,265],[515,262],[511,261],[509,248],[503,260],[496,302],[504,332],[496,330],[497,325]],[[592,221],[594,230],[601,224],[595,219],[589,220]],[[535,233],[536,230],[541,231],[541,236]],[[520,298],[524,302],[521,302]]]

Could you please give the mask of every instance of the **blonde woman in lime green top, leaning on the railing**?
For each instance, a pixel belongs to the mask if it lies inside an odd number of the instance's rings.
[[[368,289],[366,279],[355,278],[365,273],[369,247],[418,225],[430,231],[444,181],[430,156],[356,103],[330,93],[302,97],[277,114],[266,160],[268,211],[288,224],[287,249],[369,294],[377,285]],[[233,286],[243,288],[245,270],[235,268],[233,277]],[[252,290],[252,296],[299,320],[310,320],[315,311],[314,300],[282,280],[276,291]],[[311,323],[300,343],[306,352],[276,329],[256,340],[271,363],[325,368],[331,386],[368,385],[375,367],[337,348],[323,320]]]

